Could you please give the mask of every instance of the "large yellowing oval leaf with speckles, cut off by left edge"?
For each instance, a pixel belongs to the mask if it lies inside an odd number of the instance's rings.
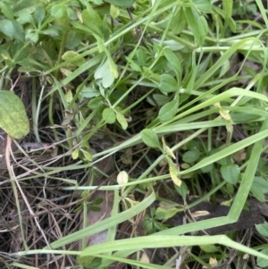
[[[0,128],[13,139],[29,133],[29,120],[21,99],[7,90],[0,91]]]

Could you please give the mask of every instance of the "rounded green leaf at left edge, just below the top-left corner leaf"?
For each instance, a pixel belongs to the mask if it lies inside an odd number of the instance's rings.
[[[0,31],[9,38],[24,41],[24,31],[18,21],[0,20]]]

